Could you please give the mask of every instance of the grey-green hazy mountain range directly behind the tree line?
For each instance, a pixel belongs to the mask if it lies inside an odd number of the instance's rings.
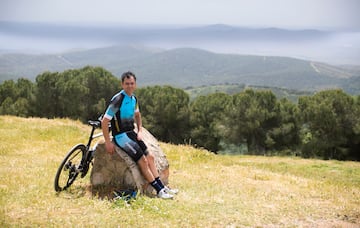
[[[236,83],[302,91],[343,88],[360,78],[358,68],[347,69],[288,57],[217,54],[201,49],[148,49],[116,46],[58,55],[0,55],[0,78],[34,80],[44,71],[63,71],[86,65],[101,66],[114,75],[132,70],[139,86],[196,87]],[[359,89],[352,88],[353,93]]]

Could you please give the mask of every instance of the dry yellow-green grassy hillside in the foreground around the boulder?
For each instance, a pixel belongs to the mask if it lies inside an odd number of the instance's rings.
[[[360,163],[220,156],[161,143],[174,200],[92,198],[89,175],[56,194],[65,153],[90,127],[68,119],[0,116],[0,226],[359,227]]]

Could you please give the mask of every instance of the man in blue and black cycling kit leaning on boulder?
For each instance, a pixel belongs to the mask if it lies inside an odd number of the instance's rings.
[[[154,156],[148,152],[142,141],[142,122],[137,98],[133,94],[136,89],[136,76],[125,72],[121,76],[123,90],[113,96],[101,122],[107,152],[114,153],[119,147],[125,151],[139,166],[146,181],[156,190],[162,199],[171,199],[177,190],[164,186],[156,169]],[[138,132],[134,131],[134,120]],[[110,140],[109,122],[114,145]]]

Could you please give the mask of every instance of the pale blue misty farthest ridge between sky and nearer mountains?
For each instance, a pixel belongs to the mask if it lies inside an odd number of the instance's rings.
[[[216,53],[285,56],[360,65],[360,31],[245,28],[223,24],[120,26],[0,21],[0,53],[63,53],[108,46],[197,48]]]

